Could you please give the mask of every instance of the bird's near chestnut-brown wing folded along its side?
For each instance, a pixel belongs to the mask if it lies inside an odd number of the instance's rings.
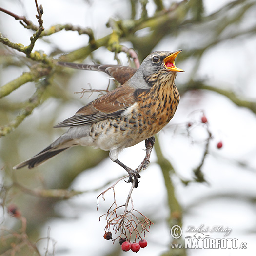
[[[130,86],[120,86],[80,108],[76,115],[54,127],[85,125],[118,117],[135,103],[134,91]]]

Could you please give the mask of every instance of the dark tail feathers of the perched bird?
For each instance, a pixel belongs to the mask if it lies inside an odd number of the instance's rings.
[[[59,154],[60,152],[66,150],[68,148],[69,147],[59,148],[59,149],[56,148],[56,150],[54,150],[50,145],[49,147],[47,147],[44,150],[42,150],[41,152],[39,152],[36,156],[17,164],[16,166],[13,167],[13,169],[20,169],[25,166],[28,166],[28,168],[34,168],[34,167],[38,166],[39,164],[45,162],[49,158],[54,157],[55,155]]]

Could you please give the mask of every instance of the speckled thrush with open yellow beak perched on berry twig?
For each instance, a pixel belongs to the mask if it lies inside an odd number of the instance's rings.
[[[121,86],[88,103],[72,116],[54,127],[70,127],[51,145],[34,157],[16,165],[33,168],[60,152],[77,145],[94,146],[109,150],[112,161],[122,166],[138,184],[140,170],[132,170],[118,160],[122,149],[145,140],[149,148],[154,145],[154,135],[174,116],[179,103],[179,93],[174,80],[177,72],[175,52],[157,51],[149,54],[137,69],[120,65],[87,65],[59,62],[61,66],[97,70],[116,79]],[[149,156],[140,166],[149,163]]]

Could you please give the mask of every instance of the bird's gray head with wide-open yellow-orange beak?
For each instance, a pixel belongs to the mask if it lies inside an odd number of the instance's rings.
[[[184,72],[175,65],[175,58],[181,52],[156,51],[149,54],[141,63],[140,67],[130,79],[131,86],[146,89],[151,87],[157,79],[170,79],[176,76],[176,72]],[[135,83],[135,81],[137,81]]]

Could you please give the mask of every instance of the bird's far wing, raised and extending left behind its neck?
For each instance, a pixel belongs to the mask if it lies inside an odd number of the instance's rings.
[[[109,76],[116,79],[120,84],[124,84],[128,81],[133,74],[136,72],[136,68],[120,66],[120,65],[104,65],[104,64],[77,64],[77,63],[69,63],[69,62],[58,62],[59,66],[69,67],[69,68],[76,68],[82,70],[95,70],[95,71],[102,71]]]

